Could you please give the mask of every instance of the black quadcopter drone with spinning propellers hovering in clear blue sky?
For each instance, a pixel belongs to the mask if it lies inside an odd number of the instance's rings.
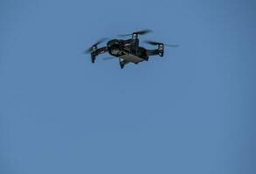
[[[158,43],[154,41],[144,41],[144,43],[149,43],[151,45],[157,46],[155,50],[148,50],[139,45],[139,35],[145,35],[152,30],[139,30],[131,34],[118,35],[118,37],[131,37],[129,39],[112,39],[107,42],[107,46],[98,48],[98,44],[107,41],[107,38],[102,38],[98,42],[94,43],[93,46],[88,48],[85,53],[91,53],[92,63],[100,54],[108,52],[112,57],[105,57],[104,60],[119,58],[119,64],[121,69],[124,68],[126,64],[133,63],[139,64],[142,61],[149,61],[151,56],[163,57],[164,46],[177,47],[176,44],[165,44]]]

